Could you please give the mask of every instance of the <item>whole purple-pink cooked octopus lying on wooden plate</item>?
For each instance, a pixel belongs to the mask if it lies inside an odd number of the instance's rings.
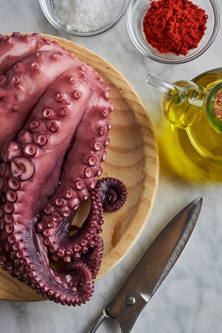
[[[109,88],[36,33],[0,35],[0,75],[0,265],[43,298],[85,304],[103,255],[103,212],[127,197],[120,180],[95,179],[110,142]]]

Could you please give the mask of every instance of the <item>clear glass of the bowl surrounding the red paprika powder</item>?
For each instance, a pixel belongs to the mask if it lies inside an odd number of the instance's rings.
[[[143,18],[150,7],[149,0],[132,0],[127,12],[127,29],[133,44],[146,57],[165,64],[182,64],[196,59],[203,54],[213,43],[220,23],[220,14],[216,0],[194,0],[194,4],[200,6],[208,15],[205,35],[196,49],[190,50],[186,56],[165,53],[162,54],[146,41],[143,32]]]

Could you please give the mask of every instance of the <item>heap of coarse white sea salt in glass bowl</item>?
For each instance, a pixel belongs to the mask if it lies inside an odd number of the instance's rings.
[[[119,0],[53,0],[55,17],[68,30],[95,31],[117,15]]]

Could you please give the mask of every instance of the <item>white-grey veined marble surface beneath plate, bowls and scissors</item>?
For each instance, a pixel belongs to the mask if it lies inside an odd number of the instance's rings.
[[[222,8],[222,0],[218,0],[218,5]],[[1,0],[0,33],[13,31],[69,38],[48,23],[37,0]],[[161,94],[146,84],[149,72],[173,82],[190,80],[205,70],[221,66],[221,34],[222,25],[213,45],[198,59],[182,65],[159,64],[140,54],[128,36],[126,16],[117,27],[101,37],[70,38],[114,65],[142,99],[154,126],[160,154],[156,201],[143,234],[123,261],[95,283],[90,302],[73,308],[49,301],[0,301],[0,332],[87,332],[154,237],[180,209],[199,195],[203,195],[204,202],[194,232],[132,332],[221,332],[222,186],[194,176],[180,161],[167,155],[164,145],[168,123],[160,113]],[[117,321],[105,321],[98,330],[98,333],[102,332],[120,332]]]

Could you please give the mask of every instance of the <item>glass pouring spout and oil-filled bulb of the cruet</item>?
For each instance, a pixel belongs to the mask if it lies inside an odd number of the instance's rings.
[[[198,116],[204,101],[204,89],[192,81],[177,81],[174,84],[147,75],[147,83],[164,94],[161,110],[167,120],[176,127],[189,127]]]

